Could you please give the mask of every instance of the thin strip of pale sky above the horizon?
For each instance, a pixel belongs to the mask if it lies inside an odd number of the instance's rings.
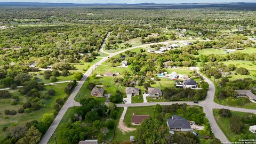
[[[48,3],[223,3],[256,2],[256,0],[0,0],[0,2],[48,2]]]

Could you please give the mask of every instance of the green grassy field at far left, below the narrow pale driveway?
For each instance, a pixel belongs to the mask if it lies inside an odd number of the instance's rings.
[[[18,90],[10,90],[12,95],[18,95],[20,98],[20,101],[18,105],[11,105],[10,102],[12,99],[0,99],[1,107],[0,107],[0,137],[3,138],[6,133],[2,131],[2,128],[4,126],[8,127],[13,127],[15,125],[20,125],[20,124],[26,124],[28,121],[41,121],[43,115],[45,113],[51,113],[53,111],[53,106],[55,104],[55,100],[58,98],[64,98],[66,97],[66,94],[64,92],[65,87],[67,86],[67,83],[62,83],[62,84],[55,84],[55,85],[47,85],[45,86],[46,90],[42,91],[40,93],[46,92],[48,89],[54,89],[55,90],[55,95],[51,97],[49,100],[43,100],[44,107],[37,110],[37,111],[31,111],[30,113],[23,113],[23,114],[16,114],[13,116],[6,116],[4,114],[5,109],[10,109],[10,110],[18,110],[19,108],[22,108],[23,102],[28,99],[27,96],[25,95],[20,95]],[[1,140],[0,138],[0,140]]]

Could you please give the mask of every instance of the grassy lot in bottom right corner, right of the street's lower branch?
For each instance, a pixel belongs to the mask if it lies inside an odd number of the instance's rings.
[[[246,115],[246,113],[242,113],[242,112],[238,112],[238,111],[231,111],[231,113],[232,113],[232,115],[237,115],[239,117],[243,117],[244,115]],[[218,109],[213,110],[213,115],[214,115],[214,118],[215,118],[217,124],[219,125],[222,132],[226,135],[228,140],[230,140],[231,142],[234,142],[235,136],[237,134],[235,134],[229,130],[230,118],[220,116],[218,114]],[[244,130],[249,131],[249,126],[246,125]]]

